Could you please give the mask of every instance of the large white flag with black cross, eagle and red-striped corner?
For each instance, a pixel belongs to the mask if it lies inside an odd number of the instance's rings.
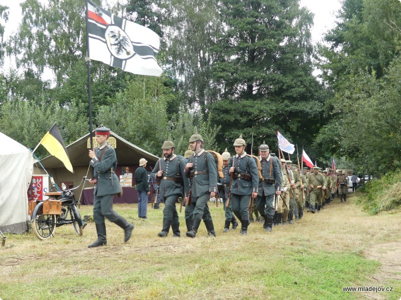
[[[90,0],[86,25],[90,59],[139,75],[163,73],[155,58],[160,38],[154,31],[118,17]]]

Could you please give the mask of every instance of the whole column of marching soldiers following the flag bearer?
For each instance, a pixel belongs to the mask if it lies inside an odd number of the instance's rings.
[[[176,202],[185,206],[186,236],[194,238],[202,220],[208,235],[216,236],[208,206],[211,198],[223,202],[225,223],[223,232],[235,230],[241,223],[241,235],[248,233],[253,212],[271,232],[274,226],[295,224],[304,215],[312,214],[329,204],[335,193],[346,201],[347,177],[338,170],[313,166],[302,169],[291,160],[279,159],[263,142],[259,156],[246,153],[246,142],[240,135],[233,144],[235,155],[225,149],[222,154],[204,149],[202,135],[195,132],[189,138],[184,156],[174,153],[171,140],[162,145],[163,157],[151,173],[158,183],[157,194],[164,202],[162,229],[159,237],[167,236],[171,226],[173,237],[180,237]],[[302,171],[302,173],[301,173]],[[158,208],[158,206],[156,206]],[[181,211],[181,209],[180,209]],[[238,219],[238,220],[237,220]]]

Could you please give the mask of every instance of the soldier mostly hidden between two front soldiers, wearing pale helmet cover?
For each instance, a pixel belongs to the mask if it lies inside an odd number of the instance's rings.
[[[233,214],[233,209],[232,209],[232,202],[230,202],[229,207],[226,207],[226,201],[227,197],[229,194],[229,184],[230,184],[230,174],[229,174],[229,160],[230,160],[230,153],[226,150],[222,153],[222,158],[223,158],[223,174],[224,177],[220,178],[220,184],[219,189],[221,190],[221,195],[223,196],[223,203],[224,203],[224,211],[225,211],[225,217],[226,221],[224,223],[224,230],[223,232],[229,232],[230,231],[230,223],[233,224],[233,227],[231,229],[236,229],[238,226],[237,219],[235,218]],[[221,188],[220,188],[221,186]]]

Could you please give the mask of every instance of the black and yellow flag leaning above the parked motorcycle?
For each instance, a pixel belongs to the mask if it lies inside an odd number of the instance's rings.
[[[52,128],[45,134],[40,143],[50,154],[59,158],[70,172],[74,172],[66,146],[56,123],[53,124]]]

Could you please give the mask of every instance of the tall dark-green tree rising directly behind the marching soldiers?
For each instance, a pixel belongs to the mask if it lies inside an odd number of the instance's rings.
[[[224,0],[219,12],[221,56],[211,72],[223,100],[210,108],[222,124],[219,145],[240,133],[277,144],[276,130],[310,143],[325,97],[312,75],[312,15],[296,0]]]

